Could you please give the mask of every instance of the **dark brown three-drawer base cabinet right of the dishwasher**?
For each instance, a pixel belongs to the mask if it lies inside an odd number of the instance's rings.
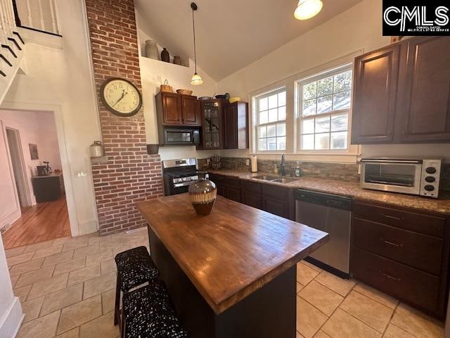
[[[351,273],[375,289],[444,319],[449,274],[449,220],[354,202]]]

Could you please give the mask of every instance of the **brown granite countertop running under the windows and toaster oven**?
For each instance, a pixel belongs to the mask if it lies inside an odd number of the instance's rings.
[[[439,194],[439,199],[430,199],[415,195],[361,189],[359,182],[345,182],[340,180],[302,176],[294,182],[280,183],[258,180],[255,178],[255,176],[259,175],[274,175],[271,173],[250,173],[249,171],[228,169],[209,169],[207,171],[209,173],[238,177],[241,180],[252,180],[255,182],[264,182],[266,184],[276,184],[282,187],[310,189],[316,192],[327,192],[328,194],[349,196],[360,201],[379,202],[383,204],[390,204],[392,206],[416,209],[417,211],[428,211],[430,213],[450,215],[450,192],[441,192]]]

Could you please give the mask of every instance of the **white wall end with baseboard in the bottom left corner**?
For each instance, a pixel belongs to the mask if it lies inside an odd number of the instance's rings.
[[[11,277],[0,234],[0,337],[15,337],[22,320],[22,308],[18,297],[15,297],[13,294]]]

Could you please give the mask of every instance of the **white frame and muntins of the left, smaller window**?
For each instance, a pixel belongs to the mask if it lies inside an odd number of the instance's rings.
[[[286,101],[285,101],[285,108],[286,108],[286,112],[285,112],[285,119],[284,120],[276,120],[274,122],[267,122],[267,123],[259,123],[259,100],[260,99],[264,99],[266,97],[272,96],[274,94],[278,95],[282,92],[285,92],[286,94]],[[255,121],[255,123],[253,123],[253,137],[252,137],[252,142],[253,142],[253,146],[254,146],[254,152],[255,154],[281,154],[284,153],[286,151],[288,151],[288,131],[287,131],[287,127],[288,127],[288,89],[285,86],[282,87],[276,87],[274,89],[270,89],[266,92],[262,92],[261,94],[257,94],[255,96],[252,96],[252,106],[254,106],[253,109],[253,120]],[[280,106],[277,106],[276,108],[278,109]],[[268,109],[269,111],[269,109]],[[276,149],[276,150],[259,150],[259,127],[262,126],[269,126],[269,125],[275,125],[277,123],[284,123],[285,124],[285,149]],[[265,137],[266,139],[269,137]],[[277,138],[277,137],[276,137]]]

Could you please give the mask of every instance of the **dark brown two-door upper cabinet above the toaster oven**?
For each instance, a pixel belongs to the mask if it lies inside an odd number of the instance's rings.
[[[450,142],[450,37],[355,59],[352,144]]]

